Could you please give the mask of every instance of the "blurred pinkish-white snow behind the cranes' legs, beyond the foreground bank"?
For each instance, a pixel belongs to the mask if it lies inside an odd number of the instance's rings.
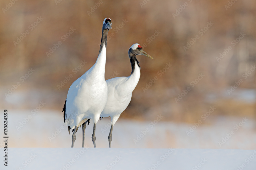
[[[30,110],[8,110],[8,116],[9,147],[71,147],[72,136],[68,134],[67,126],[63,125],[63,114],[60,112],[41,109],[34,115]],[[205,120],[201,119],[201,124],[198,122],[195,124],[166,122],[164,118],[160,119],[160,114],[152,122],[120,119],[113,129],[112,147],[256,149],[256,122],[254,119],[250,117],[246,117],[248,119],[246,121],[243,117],[213,119],[211,116]],[[3,135],[3,111],[1,111],[0,117],[1,137]],[[97,148],[108,147],[109,121],[110,119],[103,118],[97,123]],[[92,129],[92,124],[86,128],[85,145],[88,147],[93,147]],[[82,129],[80,127],[76,137],[74,147],[80,148],[82,146]],[[226,138],[226,141],[222,138]],[[0,140],[0,147],[2,144],[2,140]]]

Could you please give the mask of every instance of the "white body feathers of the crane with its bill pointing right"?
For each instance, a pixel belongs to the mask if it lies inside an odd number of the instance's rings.
[[[111,117],[114,125],[120,114],[127,108],[132,98],[132,92],[140,79],[140,67],[135,64],[134,72],[129,77],[115,77],[106,80],[108,84],[108,101],[101,117]]]

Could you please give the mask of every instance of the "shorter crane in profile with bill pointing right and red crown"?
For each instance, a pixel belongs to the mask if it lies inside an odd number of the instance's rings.
[[[126,109],[132,98],[132,91],[136,87],[140,79],[140,66],[136,55],[144,55],[153,59],[145,51],[142,50],[140,44],[133,44],[128,51],[132,65],[132,73],[129,77],[115,77],[106,80],[108,84],[108,101],[101,112],[101,117],[111,117],[111,127],[109,132],[109,147],[111,148],[112,131],[115,122],[120,114]],[[100,118],[101,118],[100,117]]]

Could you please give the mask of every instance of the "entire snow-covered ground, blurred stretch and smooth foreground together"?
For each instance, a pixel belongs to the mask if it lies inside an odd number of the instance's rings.
[[[194,124],[120,119],[108,148],[110,123],[99,120],[92,148],[92,124],[71,147],[63,114],[52,110],[8,110],[8,167],[3,166],[3,110],[0,169],[256,169],[256,122],[250,117],[208,117]],[[184,149],[177,149],[184,148]],[[211,148],[211,149],[210,149]]]

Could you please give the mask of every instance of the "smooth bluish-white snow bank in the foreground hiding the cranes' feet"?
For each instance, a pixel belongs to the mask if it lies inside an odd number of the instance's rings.
[[[10,148],[8,154],[9,166],[0,165],[1,169],[254,170],[256,167],[256,150]]]

